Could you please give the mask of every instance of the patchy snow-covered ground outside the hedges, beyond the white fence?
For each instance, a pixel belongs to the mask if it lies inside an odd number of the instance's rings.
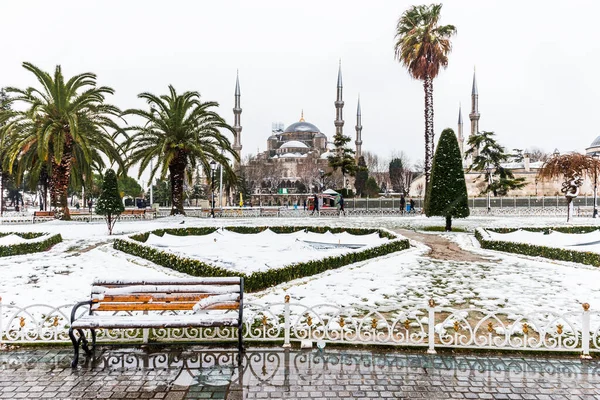
[[[597,220],[576,219],[592,225]],[[181,224],[183,222],[183,224]],[[388,229],[443,226],[442,218],[361,217],[305,219],[198,219],[163,218],[118,222],[113,237],[161,228],[188,226],[320,225],[385,227]],[[520,227],[566,225],[564,217],[473,217],[456,220],[457,227]],[[61,233],[64,242],[46,253],[0,258],[0,296],[3,302],[68,304],[89,296],[94,277],[184,276],[138,257],[112,249],[112,237],[101,223],[52,221],[35,225],[0,226],[0,232]],[[531,259],[479,249],[470,234],[451,234],[463,248],[490,257],[490,262],[439,261],[426,257],[426,247],[287,282],[247,299],[258,303],[282,302],[286,294],[306,304],[378,306],[397,309],[423,307],[433,297],[439,304],[459,307],[506,307],[521,312],[544,308],[580,309],[589,302],[600,306],[600,270],[574,263]],[[287,289],[287,290],[284,290]]]

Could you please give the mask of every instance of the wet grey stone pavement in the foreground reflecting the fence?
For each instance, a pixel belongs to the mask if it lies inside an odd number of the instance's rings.
[[[600,363],[577,358],[104,347],[0,352],[0,399],[600,399]]]

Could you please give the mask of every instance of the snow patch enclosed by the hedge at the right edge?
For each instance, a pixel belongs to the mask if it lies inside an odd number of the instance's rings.
[[[530,232],[524,230],[510,233],[488,231],[488,233],[492,240],[600,253],[600,230],[588,233],[562,233],[550,231],[547,235],[545,235],[544,232]]]

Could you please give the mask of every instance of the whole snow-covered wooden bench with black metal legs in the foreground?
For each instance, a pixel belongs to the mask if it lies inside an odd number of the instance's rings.
[[[172,278],[148,280],[99,279],[91,299],[71,311],[69,337],[76,367],[79,346],[87,355],[96,347],[96,329],[234,327],[238,330],[239,361],[243,351],[243,278]],[[89,313],[77,315],[82,306]],[[237,310],[231,313],[230,310]],[[165,311],[180,311],[178,314]],[[91,331],[91,348],[83,332]],[[75,336],[79,333],[79,337]]]

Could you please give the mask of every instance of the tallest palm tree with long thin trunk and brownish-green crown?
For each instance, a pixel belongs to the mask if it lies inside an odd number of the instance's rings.
[[[441,4],[412,6],[406,10],[396,26],[396,59],[415,79],[423,81],[425,90],[425,185],[429,185],[433,159],[433,79],[440,67],[448,66],[452,50],[450,37],[456,33],[454,25],[438,25]]]

